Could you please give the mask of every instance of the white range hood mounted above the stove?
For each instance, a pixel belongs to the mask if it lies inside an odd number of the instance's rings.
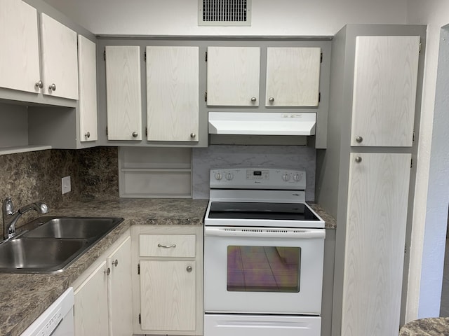
[[[209,134],[314,135],[316,113],[209,112]]]

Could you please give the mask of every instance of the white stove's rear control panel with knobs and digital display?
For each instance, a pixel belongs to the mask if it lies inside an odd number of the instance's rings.
[[[306,173],[277,168],[211,169],[210,188],[305,190]]]

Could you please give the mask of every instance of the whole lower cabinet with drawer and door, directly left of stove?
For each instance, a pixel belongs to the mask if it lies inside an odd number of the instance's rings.
[[[136,226],[135,334],[203,335],[203,228]]]

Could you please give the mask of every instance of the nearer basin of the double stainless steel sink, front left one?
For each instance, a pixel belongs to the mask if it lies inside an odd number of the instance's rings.
[[[11,239],[0,244],[0,272],[58,272],[87,246],[87,239]]]

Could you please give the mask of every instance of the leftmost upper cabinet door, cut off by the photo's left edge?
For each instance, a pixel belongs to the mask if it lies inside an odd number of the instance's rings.
[[[0,87],[39,92],[36,8],[20,0],[0,1]]]

